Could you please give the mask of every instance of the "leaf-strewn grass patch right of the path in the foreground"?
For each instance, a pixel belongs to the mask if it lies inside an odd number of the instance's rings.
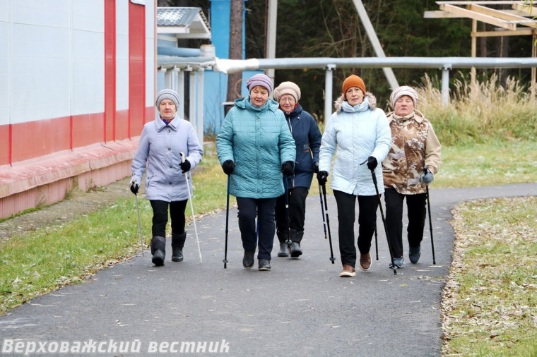
[[[537,198],[464,202],[444,287],[446,356],[537,356]]]

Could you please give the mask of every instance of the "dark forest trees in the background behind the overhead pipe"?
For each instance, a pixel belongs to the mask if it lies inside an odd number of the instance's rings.
[[[242,1],[242,0],[231,0]],[[377,32],[386,56],[471,56],[471,19],[424,18],[425,11],[438,10],[432,0],[362,1]],[[158,0],[158,6],[201,7],[210,18],[209,0]],[[266,13],[268,0],[244,3],[245,47],[247,58],[266,57]],[[498,5],[495,8],[502,8]],[[478,30],[491,30],[479,23]],[[189,46],[196,47],[202,41]],[[530,36],[481,37],[478,56],[530,57]],[[186,46],[185,46],[186,47]],[[353,0],[278,0],[276,57],[370,57],[375,56],[367,34],[355,10]],[[486,79],[494,70],[480,71],[478,79]],[[514,76],[529,83],[529,69],[495,70],[501,80]],[[456,75],[468,75],[461,70]],[[341,83],[351,73],[360,75],[368,91],[379,99],[379,107],[391,92],[381,68],[338,68],[334,71],[334,95],[341,92]],[[420,85],[425,74],[420,68],[394,68],[399,84]],[[439,71],[430,71],[435,78]],[[300,103],[317,119],[324,120],[324,70],[276,70],[276,85],[291,80],[302,89]],[[452,75],[452,78],[454,75]],[[501,81],[500,81],[501,83]],[[385,109],[385,108],[383,108]]]

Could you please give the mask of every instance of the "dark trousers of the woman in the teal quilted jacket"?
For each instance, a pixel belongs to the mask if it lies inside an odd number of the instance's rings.
[[[239,208],[239,229],[244,250],[256,250],[256,228],[259,238],[257,245],[258,259],[271,260],[272,244],[274,242],[274,205],[276,198],[244,198],[237,197]],[[256,227],[257,217],[257,227]]]

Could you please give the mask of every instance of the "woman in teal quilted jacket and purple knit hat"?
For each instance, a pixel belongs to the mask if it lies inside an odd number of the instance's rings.
[[[254,265],[257,217],[259,270],[270,270],[274,205],[284,192],[282,172],[293,174],[295,141],[278,103],[268,99],[271,79],[259,73],[246,87],[249,95],[236,99],[225,116],[216,151],[225,174],[230,175],[230,194],[237,198],[242,265],[246,269]]]

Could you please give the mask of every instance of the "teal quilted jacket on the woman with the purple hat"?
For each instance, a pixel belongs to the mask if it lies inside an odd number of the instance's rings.
[[[281,164],[295,161],[295,140],[278,102],[252,107],[249,95],[236,99],[216,137],[220,164],[235,162],[230,194],[244,198],[283,195]]]

